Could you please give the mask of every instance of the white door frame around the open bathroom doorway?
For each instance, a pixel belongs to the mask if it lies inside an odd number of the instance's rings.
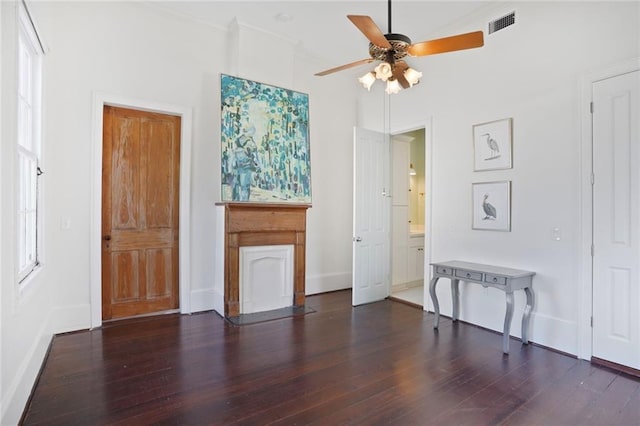
[[[431,236],[433,235],[433,226],[432,226],[432,206],[431,200],[433,197],[433,118],[427,117],[425,122],[417,123],[415,126],[408,126],[404,128],[393,129],[390,132],[390,136],[399,135],[402,133],[411,132],[413,130],[418,130],[424,128],[424,155],[425,155],[425,196],[424,196],[424,215],[425,215],[425,223],[424,223],[424,302],[422,304],[422,309],[424,311],[433,312],[433,307],[431,306],[431,299],[429,298],[429,286],[428,283],[431,280]],[[391,258],[389,258],[391,261]],[[392,283],[390,282],[389,285]],[[391,292],[391,288],[389,288],[389,292]]]

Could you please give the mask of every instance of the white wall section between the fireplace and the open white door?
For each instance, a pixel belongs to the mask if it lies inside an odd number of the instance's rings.
[[[316,77],[326,63],[297,56],[296,86],[309,93],[311,185],[306,293],[351,288],[353,126],[360,87],[341,75]]]

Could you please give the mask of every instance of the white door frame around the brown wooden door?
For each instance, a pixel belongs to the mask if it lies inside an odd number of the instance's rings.
[[[91,224],[89,230],[91,328],[102,325],[102,123],[104,105],[177,115],[180,123],[180,312],[191,313],[189,258],[191,247],[191,108],[130,99],[102,92],[93,94],[91,137]]]

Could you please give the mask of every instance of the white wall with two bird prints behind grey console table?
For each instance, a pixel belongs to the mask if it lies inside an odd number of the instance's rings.
[[[512,10],[516,24],[480,49],[411,58],[424,72],[391,100],[391,130],[433,118],[433,261],[461,259],[536,271],[531,340],[578,354],[580,83],[640,56],[638,2],[515,2],[485,8],[435,36],[485,29]],[[363,101],[361,100],[361,103]],[[377,114],[365,126],[377,124]],[[513,169],[473,172],[473,124],[513,117]],[[370,120],[366,120],[370,118]],[[471,183],[512,181],[512,231],[471,230]],[[551,229],[561,229],[554,241]],[[451,313],[447,285],[438,295]],[[461,318],[501,331],[504,295],[461,286]],[[516,297],[512,334],[524,305]]]

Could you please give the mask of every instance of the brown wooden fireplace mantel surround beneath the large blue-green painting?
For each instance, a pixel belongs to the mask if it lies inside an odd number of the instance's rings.
[[[217,203],[216,206],[224,208],[225,317],[240,315],[240,247],[246,246],[293,245],[292,305],[303,306],[306,218],[311,206],[266,203]]]

